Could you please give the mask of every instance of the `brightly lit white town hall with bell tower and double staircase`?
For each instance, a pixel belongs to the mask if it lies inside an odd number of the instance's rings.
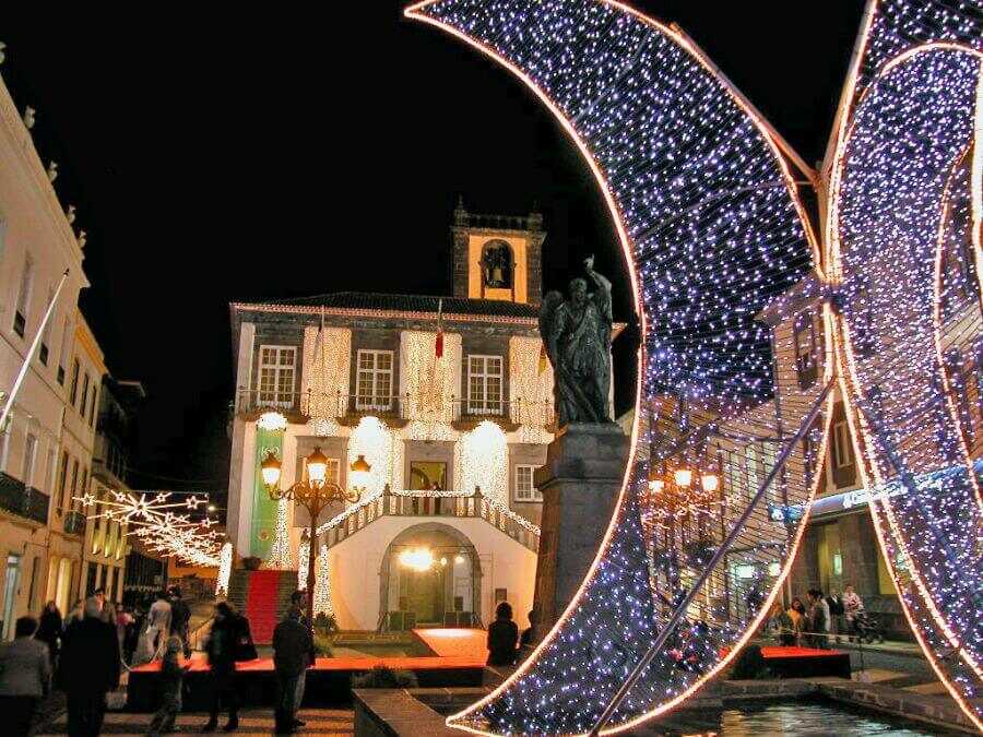
[[[303,479],[316,448],[343,487],[356,459],[371,466],[362,501],[329,510],[319,526],[343,629],[488,622],[506,599],[525,623],[542,508],[533,476],[555,429],[537,324],[542,226],[537,213],[482,216],[459,205],[453,296],[230,306],[227,524],[237,554],[268,560],[277,538],[280,504],[259,474],[270,451],[283,488]],[[280,503],[296,567],[308,520]]]

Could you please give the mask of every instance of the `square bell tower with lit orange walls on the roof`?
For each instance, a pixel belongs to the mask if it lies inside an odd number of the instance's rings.
[[[543,215],[478,215],[458,200],[451,225],[454,297],[538,305],[543,298]]]

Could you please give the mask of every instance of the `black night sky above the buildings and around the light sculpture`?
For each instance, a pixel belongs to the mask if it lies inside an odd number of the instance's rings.
[[[504,70],[404,2],[332,15],[86,7],[7,17],[0,68],[56,190],[88,233],[82,310],[110,372],[144,382],[132,477],[225,485],[228,302],[327,292],[446,294],[459,193],[538,201],[547,286],[596,252],[630,320],[627,273],[587,167]],[[862,0],[637,2],[677,22],[807,161],[822,156]],[[631,362],[631,337],[616,360]],[[623,390],[633,382],[619,371]],[[619,409],[633,401],[620,391]]]

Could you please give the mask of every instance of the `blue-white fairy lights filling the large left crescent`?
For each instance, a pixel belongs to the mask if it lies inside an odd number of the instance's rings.
[[[688,438],[653,451],[651,463],[632,460],[615,532],[570,616],[493,699],[451,721],[502,735],[583,733],[774,466],[772,334],[756,318],[810,272],[812,249],[779,154],[667,29],[594,0],[438,0],[413,14],[521,70],[590,150],[630,240],[644,310],[639,406],[671,395],[679,407],[656,411],[639,444],[658,445],[666,423]],[[785,419],[798,424],[816,393],[790,397]],[[748,407],[760,412],[745,415]],[[673,464],[712,472],[720,486],[682,507],[650,497],[650,476],[671,475]],[[768,511],[807,500],[802,452],[797,464],[756,504],[743,552],[700,587],[612,726],[683,697],[756,620],[797,539],[797,521]]]

